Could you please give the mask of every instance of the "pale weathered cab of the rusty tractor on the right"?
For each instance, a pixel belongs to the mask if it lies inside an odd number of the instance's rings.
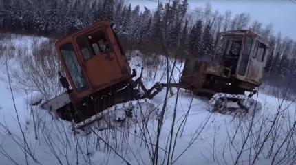
[[[249,30],[220,34],[213,63],[231,69],[231,76],[249,83],[261,83],[268,45]]]

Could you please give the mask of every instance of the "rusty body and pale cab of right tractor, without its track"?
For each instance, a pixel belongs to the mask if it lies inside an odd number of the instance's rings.
[[[249,30],[220,34],[210,61],[185,61],[181,83],[200,94],[244,94],[262,83],[268,45]]]

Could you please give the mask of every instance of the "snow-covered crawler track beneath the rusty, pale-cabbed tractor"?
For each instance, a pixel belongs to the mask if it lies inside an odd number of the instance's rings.
[[[261,109],[261,104],[257,100],[244,95],[215,94],[209,100],[211,112],[242,116],[247,113],[255,113]]]

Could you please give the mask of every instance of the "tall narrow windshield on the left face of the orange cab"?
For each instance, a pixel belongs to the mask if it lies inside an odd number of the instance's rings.
[[[77,91],[83,91],[88,88],[85,76],[82,72],[81,66],[78,63],[77,56],[74,52],[72,43],[65,43],[61,46],[61,55],[65,61],[67,71],[69,72],[72,81]]]

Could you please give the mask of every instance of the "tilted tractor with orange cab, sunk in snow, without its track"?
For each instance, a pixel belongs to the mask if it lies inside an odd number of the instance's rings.
[[[63,120],[82,122],[115,104],[152,98],[160,90],[146,89],[129,67],[109,21],[100,21],[56,42],[67,91],[41,105]],[[142,75],[142,74],[141,74]],[[140,86],[142,93],[136,89]],[[154,90],[158,89],[158,90]]]

